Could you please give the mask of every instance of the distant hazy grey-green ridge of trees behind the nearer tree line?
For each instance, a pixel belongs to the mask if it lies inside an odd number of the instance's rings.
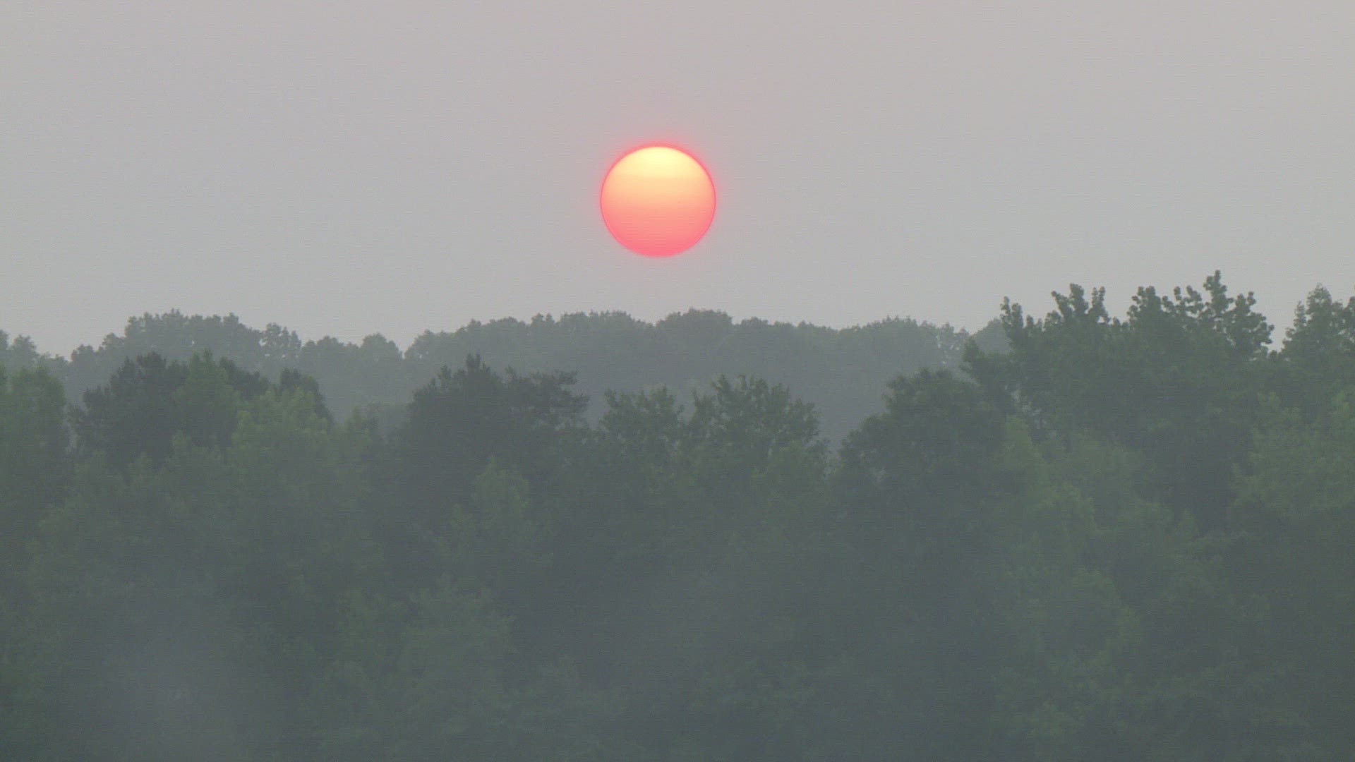
[[[80,399],[126,359],[153,351],[168,361],[187,361],[194,353],[211,351],[274,380],[286,369],[309,374],[337,415],[367,409],[382,428],[397,423],[413,390],[440,367],[455,367],[472,354],[495,367],[576,372],[577,389],[589,397],[593,414],[608,389],[667,386],[688,396],[721,373],[743,373],[785,384],[814,403],[824,433],[837,439],[879,409],[890,378],[924,367],[958,367],[970,338],[988,350],[1000,350],[1005,342],[996,321],[970,335],[912,319],[825,328],[756,317],[734,321],[720,310],[688,309],[657,323],[623,312],[473,320],[455,331],[424,331],[401,350],[381,334],[358,343],[332,336],[304,342],[276,323],[259,329],[236,315],[171,310],[130,317],[121,335],[108,334],[99,347],[81,346],[69,358],[43,354],[28,338],[11,340],[0,332],[0,363],[45,367],[61,380],[69,399]]]

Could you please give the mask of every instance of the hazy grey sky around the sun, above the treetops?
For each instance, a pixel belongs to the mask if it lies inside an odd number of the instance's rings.
[[[0,328],[180,308],[401,344],[687,306],[981,327],[1222,268],[1287,324],[1355,286],[1355,3],[0,4]],[[668,260],[625,148],[721,206]]]

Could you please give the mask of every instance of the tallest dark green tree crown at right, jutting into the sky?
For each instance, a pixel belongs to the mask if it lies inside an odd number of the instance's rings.
[[[1003,305],[1011,353],[970,348],[965,369],[1015,400],[1037,431],[1087,430],[1145,453],[1153,496],[1218,526],[1233,465],[1247,452],[1256,395],[1270,380],[1271,325],[1252,294],[1228,297],[1218,273],[1205,292],[1141,287],[1125,320],[1104,289],[1054,293],[1043,320]]]

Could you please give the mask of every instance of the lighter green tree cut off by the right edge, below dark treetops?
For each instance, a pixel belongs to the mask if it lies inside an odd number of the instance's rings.
[[[1238,477],[1225,563],[1255,611],[1238,658],[1266,679],[1244,736],[1256,759],[1339,759],[1355,746],[1355,386],[1347,389],[1312,420],[1270,400]]]

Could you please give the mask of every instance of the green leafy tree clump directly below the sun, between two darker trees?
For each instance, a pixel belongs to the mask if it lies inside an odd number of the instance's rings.
[[[564,450],[556,584],[520,641],[606,686],[633,758],[785,758],[812,712],[797,583],[829,504],[813,409],[747,377],[690,409],[663,389],[607,403]]]

